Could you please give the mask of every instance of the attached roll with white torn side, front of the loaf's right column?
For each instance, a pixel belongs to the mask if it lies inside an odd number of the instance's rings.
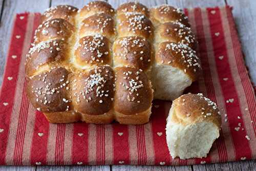
[[[174,100],[195,81],[201,71],[196,51],[183,44],[165,41],[156,51],[152,67],[155,98]]]

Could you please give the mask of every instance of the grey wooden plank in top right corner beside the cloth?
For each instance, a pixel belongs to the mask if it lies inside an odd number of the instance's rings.
[[[227,4],[233,6],[232,13],[242,42],[245,63],[251,80],[256,84],[256,1],[227,0]]]

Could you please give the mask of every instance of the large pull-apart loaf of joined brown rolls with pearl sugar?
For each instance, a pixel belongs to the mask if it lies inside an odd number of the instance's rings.
[[[26,58],[27,95],[52,123],[143,124],[154,91],[173,100],[197,80],[196,47],[187,17],[170,6],[52,7]]]

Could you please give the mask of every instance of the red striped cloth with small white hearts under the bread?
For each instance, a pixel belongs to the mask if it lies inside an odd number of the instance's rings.
[[[23,13],[15,18],[0,95],[0,164],[186,165],[255,159],[256,100],[231,8],[185,12],[203,66],[202,77],[187,92],[202,92],[217,102],[223,116],[221,136],[207,158],[169,156],[164,130],[168,101],[155,100],[151,121],[144,125],[49,124],[25,93],[25,56],[40,15]]]

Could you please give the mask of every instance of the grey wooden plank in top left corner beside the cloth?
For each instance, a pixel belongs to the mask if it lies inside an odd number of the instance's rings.
[[[14,15],[25,11],[42,12],[49,5],[50,0],[4,1],[0,26],[0,84],[2,83]]]

